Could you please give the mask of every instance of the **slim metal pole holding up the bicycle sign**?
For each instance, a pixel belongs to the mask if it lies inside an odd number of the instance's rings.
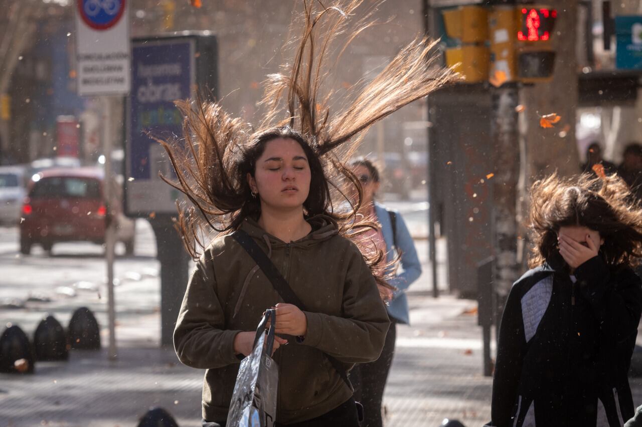
[[[114,246],[116,246],[116,212],[114,212],[114,188],[112,185],[112,103],[103,96],[103,155],[105,156],[105,258],[107,260],[107,316],[109,344],[107,356],[116,358],[116,302],[114,299]]]

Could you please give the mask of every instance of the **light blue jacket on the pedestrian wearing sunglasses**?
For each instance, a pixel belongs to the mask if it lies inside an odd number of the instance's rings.
[[[381,224],[381,233],[383,234],[383,240],[386,242],[387,261],[391,262],[396,254],[393,249],[395,245],[392,241],[393,233],[390,215],[385,206],[379,205],[379,203],[375,203],[374,212],[377,215],[377,221]],[[392,301],[390,301],[390,305],[388,305],[388,314],[394,317],[395,320],[407,324],[410,323],[410,318],[408,316],[406,289],[421,275],[421,263],[417,257],[417,249],[415,249],[415,243],[410,237],[406,222],[399,212],[395,210],[393,212],[397,214],[397,248],[401,251],[401,267],[403,267],[403,271],[397,271],[397,276],[389,282],[397,290],[392,297]]]

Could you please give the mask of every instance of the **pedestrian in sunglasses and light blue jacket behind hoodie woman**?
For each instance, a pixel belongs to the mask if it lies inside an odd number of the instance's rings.
[[[406,289],[421,275],[421,263],[401,214],[388,210],[375,200],[381,188],[379,169],[367,158],[353,160],[351,167],[352,173],[361,184],[361,206],[358,214],[362,215],[365,221],[372,221],[378,226],[377,229],[373,228],[358,236],[362,242],[369,240],[364,242],[362,247],[372,247],[386,254],[380,262],[380,274],[386,273],[386,266],[393,263],[397,256],[402,268],[401,271],[392,272],[392,278],[388,280],[388,283],[395,287],[394,291],[390,292],[381,286],[379,289],[388,302],[390,317],[390,328],[381,356],[374,362],[357,364],[350,371],[355,399],[361,402],[364,408],[365,420],[361,426],[381,427],[383,425],[381,401],[395,351],[396,325],[397,323],[408,324],[410,321]]]

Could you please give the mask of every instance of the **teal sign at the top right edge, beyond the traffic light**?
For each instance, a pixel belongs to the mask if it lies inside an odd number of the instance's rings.
[[[642,69],[642,16],[616,16],[615,33],[615,67],[621,70]]]

